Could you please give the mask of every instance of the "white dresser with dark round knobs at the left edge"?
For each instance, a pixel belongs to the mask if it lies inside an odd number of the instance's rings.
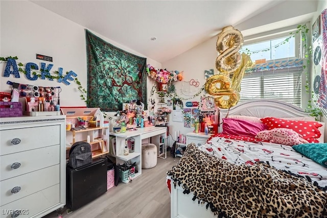
[[[65,116],[0,118],[0,139],[0,217],[42,217],[63,207]]]

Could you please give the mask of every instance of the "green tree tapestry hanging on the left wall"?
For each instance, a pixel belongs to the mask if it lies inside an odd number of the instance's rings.
[[[147,109],[147,59],[125,52],[86,32],[87,107],[122,110],[123,103],[139,100]]]

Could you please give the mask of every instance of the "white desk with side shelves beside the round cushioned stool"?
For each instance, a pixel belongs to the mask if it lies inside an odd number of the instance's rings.
[[[151,142],[156,144],[157,150],[159,150],[158,145],[160,144],[160,136],[166,137],[167,129],[166,127],[145,127],[137,128],[136,130],[129,131],[125,133],[110,132],[110,135],[116,137],[116,155],[111,155],[116,158],[116,163],[123,164],[125,161],[130,161],[131,163],[136,162],[136,171],[134,178],[142,174],[142,139],[151,138]],[[125,139],[134,138],[134,152],[124,155]],[[167,150],[167,141],[165,140],[165,149]]]

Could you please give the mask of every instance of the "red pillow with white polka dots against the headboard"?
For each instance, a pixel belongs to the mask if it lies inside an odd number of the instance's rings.
[[[303,120],[288,120],[275,117],[261,118],[263,124],[267,125],[268,130],[275,128],[287,128],[294,130],[309,142],[319,142],[321,133],[318,130],[322,125],[318,122]]]

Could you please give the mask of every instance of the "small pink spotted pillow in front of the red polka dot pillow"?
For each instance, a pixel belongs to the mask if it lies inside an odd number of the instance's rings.
[[[285,144],[286,146],[309,143],[306,139],[303,139],[301,135],[295,132],[294,130],[286,128],[264,130],[256,134],[255,138],[266,140],[271,143]]]

